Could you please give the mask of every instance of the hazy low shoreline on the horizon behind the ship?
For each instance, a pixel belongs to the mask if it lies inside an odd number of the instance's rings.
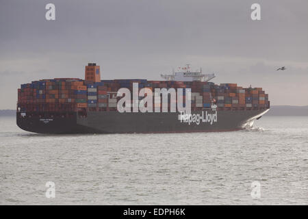
[[[16,110],[0,110],[0,116],[15,116]],[[273,105],[264,116],[308,116],[308,105]]]

